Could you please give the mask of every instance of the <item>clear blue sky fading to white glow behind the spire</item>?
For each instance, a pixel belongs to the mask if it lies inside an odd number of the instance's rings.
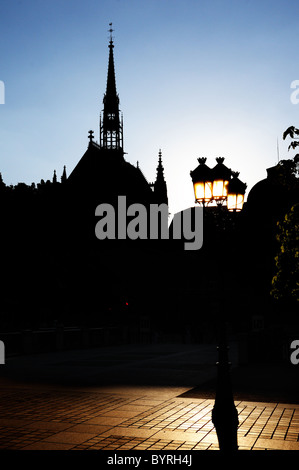
[[[194,205],[198,157],[251,187],[299,127],[297,0],[0,0],[0,172],[69,174],[98,140],[113,23],[126,159],[149,181],[161,148],[172,213]],[[299,96],[299,94],[298,94]]]

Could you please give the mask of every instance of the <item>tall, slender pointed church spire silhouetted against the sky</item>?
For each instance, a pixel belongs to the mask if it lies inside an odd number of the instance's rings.
[[[110,23],[109,61],[104,109],[100,117],[100,147],[106,150],[118,151],[123,156],[123,122],[120,118],[119,97],[116,91],[112,23]]]

